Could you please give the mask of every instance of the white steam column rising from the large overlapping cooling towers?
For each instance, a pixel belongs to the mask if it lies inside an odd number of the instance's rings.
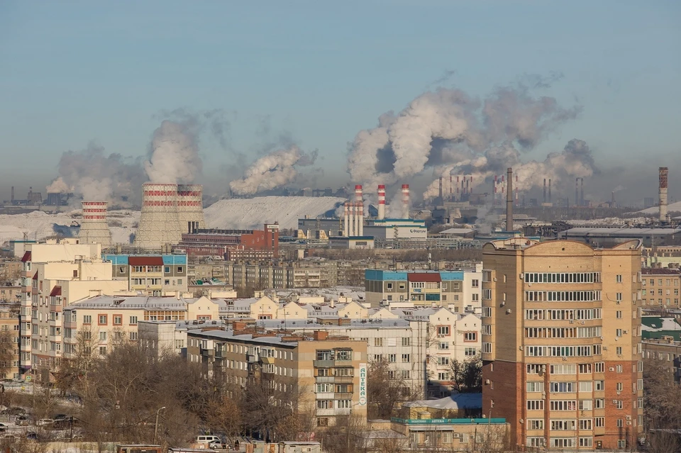
[[[154,131],[149,160],[144,169],[155,184],[189,184],[201,174],[203,164],[194,133],[187,125],[165,120]]]

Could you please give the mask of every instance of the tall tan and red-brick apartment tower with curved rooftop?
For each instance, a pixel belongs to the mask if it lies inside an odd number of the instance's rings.
[[[641,242],[482,250],[483,413],[511,442],[629,449],[642,429]],[[607,322],[606,322],[607,320]]]

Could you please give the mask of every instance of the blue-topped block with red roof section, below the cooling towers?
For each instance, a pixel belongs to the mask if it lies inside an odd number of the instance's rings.
[[[187,292],[187,255],[104,255],[115,280],[147,296]]]

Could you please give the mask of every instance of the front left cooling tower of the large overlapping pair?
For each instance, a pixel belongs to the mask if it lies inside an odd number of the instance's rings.
[[[177,244],[183,231],[177,213],[177,184],[142,184],[142,216],[135,245],[160,249]]]

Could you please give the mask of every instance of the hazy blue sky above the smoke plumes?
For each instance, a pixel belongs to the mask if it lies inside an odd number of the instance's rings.
[[[528,157],[580,138],[646,191],[667,165],[674,199],[680,20],[678,1],[2,1],[0,198],[92,142],[147,155],[178,108],[224,112],[225,142],[199,143],[213,191],[279,142],[348,184],[348,142],[424,91],[562,74],[541,95],[582,113]]]

